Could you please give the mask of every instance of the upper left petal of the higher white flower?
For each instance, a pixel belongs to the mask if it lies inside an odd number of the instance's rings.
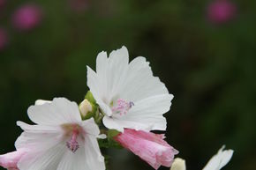
[[[123,47],[112,51],[109,58],[105,52],[100,53],[96,61],[97,73],[87,67],[87,85],[106,115],[112,115],[109,104],[124,85],[128,62],[128,51]]]

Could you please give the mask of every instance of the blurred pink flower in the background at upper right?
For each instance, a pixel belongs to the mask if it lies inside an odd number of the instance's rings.
[[[215,24],[230,21],[236,13],[237,6],[229,0],[216,0],[207,7],[207,18]]]

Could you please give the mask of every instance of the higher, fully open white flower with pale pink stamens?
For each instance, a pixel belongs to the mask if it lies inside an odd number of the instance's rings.
[[[104,125],[109,129],[124,128],[165,130],[173,95],[159,78],[154,77],[149,63],[139,56],[129,63],[127,48],[97,56],[96,72],[87,67],[87,85],[101,107]]]

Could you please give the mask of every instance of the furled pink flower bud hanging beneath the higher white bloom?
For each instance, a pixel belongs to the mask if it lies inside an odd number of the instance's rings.
[[[124,129],[124,133],[114,137],[124,148],[138,155],[154,169],[158,169],[160,166],[171,166],[174,155],[178,153],[163,138],[164,135],[135,129]]]

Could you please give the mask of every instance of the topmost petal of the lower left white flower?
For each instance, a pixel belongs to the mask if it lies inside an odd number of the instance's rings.
[[[60,125],[81,121],[78,105],[64,98],[55,98],[51,103],[31,106],[27,113],[31,121],[41,125]]]

